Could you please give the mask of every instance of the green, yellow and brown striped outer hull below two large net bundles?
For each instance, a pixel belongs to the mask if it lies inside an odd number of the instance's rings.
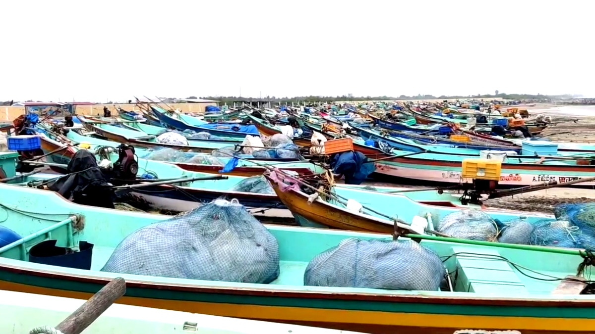
[[[0,289],[88,299],[108,282],[51,277],[51,273],[39,274],[33,276],[15,273],[15,270],[3,270],[0,273]],[[73,285],[73,281],[76,285]],[[151,286],[127,281],[126,296],[118,299],[118,304],[378,334],[452,334],[455,330],[469,328],[519,330],[523,334],[586,334],[593,333],[592,328],[595,326],[594,319],[561,317],[560,310],[556,308],[511,306],[502,310],[503,303],[499,301],[485,301],[484,305],[478,306],[477,303],[448,303],[448,298],[443,298],[442,303],[436,304],[435,300],[427,298],[425,303],[369,301],[356,302],[354,305],[347,300],[333,298],[333,294],[328,294],[327,298],[321,300],[299,297],[299,293],[292,297],[283,293],[278,293],[278,297],[266,295],[268,296],[258,293],[192,294],[188,291],[171,291],[167,285]],[[385,310],[374,310],[375,308]],[[387,308],[392,308],[393,311],[386,311]],[[536,315],[538,311],[542,312],[541,316]],[[581,308],[581,313],[593,311],[593,307]]]

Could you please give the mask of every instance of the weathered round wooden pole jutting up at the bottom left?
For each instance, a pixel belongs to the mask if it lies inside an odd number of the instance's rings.
[[[120,277],[113,279],[58,324],[56,329],[64,334],[80,334],[124,294],[126,294],[126,281]]]

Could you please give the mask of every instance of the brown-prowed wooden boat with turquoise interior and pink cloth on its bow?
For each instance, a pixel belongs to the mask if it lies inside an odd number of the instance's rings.
[[[420,191],[408,193],[407,196],[418,198],[416,201],[399,193],[388,193],[378,190],[369,190],[366,188],[337,188],[333,187],[330,194],[339,198],[348,198],[355,200],[364,206],[361,212],[354,212],[346,208],[345,203],[340,203],[333,198],[325,200],[312,201],[311,195],[304,193],[299,187],[290,187],[283,189],[285,184],[295,182],[295,179],[282,172],[265,174],[275,193],[280,200],[293,213],[296,222],[300,226],[315,228],[334,228],[346,229],[349,231],[377,232],[390,234],[393,231],[393,219],[399,219],[403,222],[413,222],[415,216],[427,219],[433,222],[439,222],[444,216],[462,209],[481,209],[488,213],[491,218],[500,221],[509,221],[513,219],[527,219],[534,223],[544,218],[553,219],[552,215],[546,213],[527,213],[516,210],[491,209],[481,206],[463,206],[453,205],[450,201],[441,201],[438,196],[431,196],[428,193],[436,191]],[[446,193],[446,196],[460,197],[461,193]],[[407,208],[406,210],[403,208]]]

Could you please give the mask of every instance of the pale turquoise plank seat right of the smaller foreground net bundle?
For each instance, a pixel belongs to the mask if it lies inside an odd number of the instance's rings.
[[[497,250],[471,247],[452,247],[458,270],[457,291],[494,294],[528,294],[512,266],[496,256]],[[467,253],[467,254],[459,254]],[[490,257],[481,257],[490,256]],[[494,257],[491,257],[494,256]]]

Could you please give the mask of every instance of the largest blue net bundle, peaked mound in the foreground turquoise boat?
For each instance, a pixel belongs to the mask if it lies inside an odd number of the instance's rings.
[[[279,275],[274,235],[237,200],[215,200],[124,238],[104,272],[270,283]]]

